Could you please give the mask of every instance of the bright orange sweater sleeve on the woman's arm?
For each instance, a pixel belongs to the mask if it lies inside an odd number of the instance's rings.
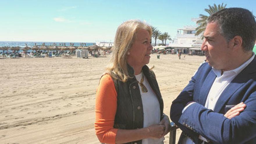
[[[109,74],[102,76],[96,90],[95,131],[101,143],[115,143],[118,129],[114,129],[117,93]]]

